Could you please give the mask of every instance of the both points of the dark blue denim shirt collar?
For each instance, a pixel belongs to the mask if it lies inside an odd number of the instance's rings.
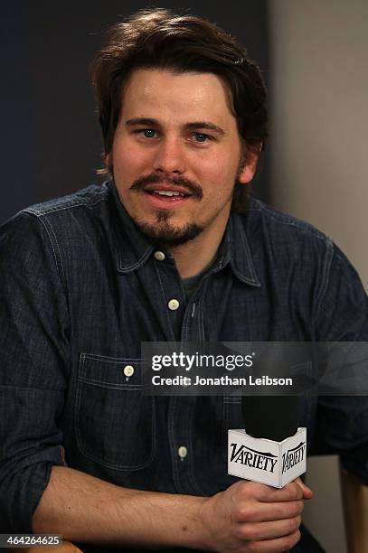
[[[156,248],[148,242],[129,217],[120,202],[115,184],[110,182],[108,186],[118,214],[117,268],[119,273],[129,273],[144,265]],[[216,273],[230,265],[234,275],[241,282],[250,286],[260,286],[242,217],[246,215],[231,214],[217,261],[213,264],[211,272]]]

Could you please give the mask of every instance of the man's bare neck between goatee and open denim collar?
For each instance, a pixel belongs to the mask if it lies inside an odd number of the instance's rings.
[[[225,224],[218,225],[215,229],[203,230],[196,239],[182,246],[170,248],[180,277],[193,277],[211,265],[221,244],[226,223],[227,220]]]

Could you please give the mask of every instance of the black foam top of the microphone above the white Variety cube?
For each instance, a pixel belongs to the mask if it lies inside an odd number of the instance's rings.
[[[281,442],[297,432],[298,396],[242,396],[245,432],[252,437]]]

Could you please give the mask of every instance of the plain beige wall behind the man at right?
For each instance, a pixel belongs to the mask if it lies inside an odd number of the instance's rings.
[[[331,236],[368,288],[368,2],[269,9],[272,203]],[[309,466],[316,500],[305,520],[327,553],[344,553],[335,459]]]

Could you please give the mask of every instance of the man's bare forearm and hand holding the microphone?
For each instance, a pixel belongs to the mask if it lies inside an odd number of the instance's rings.
[[[235,483],[212,498],[120,488],[89,474],[53,467],[33,516],[35,533],[110,546],[285,551],[298,539],[300,481],[283,490]]]

